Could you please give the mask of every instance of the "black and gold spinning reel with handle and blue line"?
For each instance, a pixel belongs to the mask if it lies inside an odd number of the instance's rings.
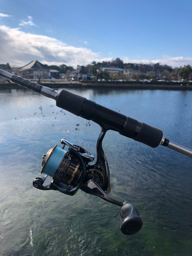
[[[84,148],[74,145],[66,139],[61,139],[62,148],[55,145],[51,148],[41,164],[41,173],[45,177],[37,177],[33,181],[33,186],[41,190],[58,190],[63,194],[74,196],[80,188],[84,192],[100,197],[112,204],[118,205],[120,209],[120,229],[123,234],[134,234],[138,232],[143,223],[134,205],[129,202],[120,202],[111,198],[109,165],[102,149],[102,140],[107,129],[101,126],[101,133],[97,140],[97,160],[95,164],[90,164],[94,156],[84,150]],[[65,147],[68,146],[68,151]],[[52,177],[52,182],[44,186],[48,176]]]

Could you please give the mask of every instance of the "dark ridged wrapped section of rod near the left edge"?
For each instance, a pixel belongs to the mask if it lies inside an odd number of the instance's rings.
[[[18,83],[20,86],[26,87],[29,90],[33,90],[36,93],[40,93],[42,86],[35,82],[31,82],[23,77],[13,75],[11,78],[12,82]]]

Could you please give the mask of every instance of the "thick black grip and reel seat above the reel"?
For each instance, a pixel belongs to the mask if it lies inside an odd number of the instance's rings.
[[[138,122],[66,90],[62,90],[58,94],[56,105],[74,115],[99,124],[106,124],[109,129],[151,147],[159,146],[163,137],[163,132],[160,129]]]

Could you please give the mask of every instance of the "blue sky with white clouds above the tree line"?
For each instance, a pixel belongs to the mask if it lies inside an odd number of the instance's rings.
[[[192,66],[191,0],[1,0],[0,63]]]

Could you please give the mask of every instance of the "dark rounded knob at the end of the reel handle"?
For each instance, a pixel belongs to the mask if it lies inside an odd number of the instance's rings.
[[[126,235],[137,233],[143,225],[138,210],[129,202],[124,202],[121,206],[120,222],[121,232]]]

